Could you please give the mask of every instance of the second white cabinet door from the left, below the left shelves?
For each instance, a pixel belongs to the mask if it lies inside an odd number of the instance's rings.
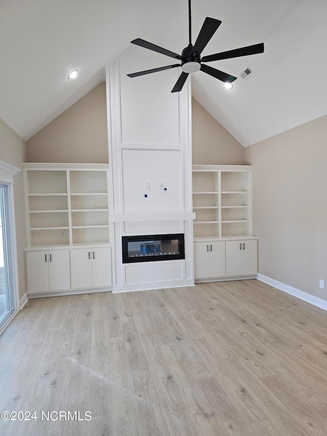
[[[49,251],[50,291],[63,291],[71,288],[71,268],[69,250]]]

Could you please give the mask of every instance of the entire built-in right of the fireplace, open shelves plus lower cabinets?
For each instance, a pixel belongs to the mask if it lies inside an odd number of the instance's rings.
[[[247,165],[193,166],[196,281],[252,278],[258,273],[251,174],[252,167]]]

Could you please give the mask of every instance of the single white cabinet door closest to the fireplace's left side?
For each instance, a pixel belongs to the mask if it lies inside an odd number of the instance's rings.
[[[111,248],[92,249],[92,286],[111,286]]]

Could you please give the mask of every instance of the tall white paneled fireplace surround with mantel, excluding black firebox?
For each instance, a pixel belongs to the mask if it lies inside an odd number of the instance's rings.
[[[132,47],[106,68],[113,292],[194,285],[191,84],[171,94],[174,70],[127,77],[153,57]],[[185,259],[123,264],[123,236],[178,233]]]

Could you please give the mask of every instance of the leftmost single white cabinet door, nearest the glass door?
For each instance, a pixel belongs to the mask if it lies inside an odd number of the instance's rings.
[[[48,251],[28,251],[26,267],[28,293],[49,292]]]

